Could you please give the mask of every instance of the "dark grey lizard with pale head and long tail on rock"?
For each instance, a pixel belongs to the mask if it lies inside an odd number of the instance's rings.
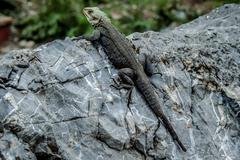
[[[86,7],[83,9],[83,14],[93,26],[94,32],[91,36],[83,35],[75,37],[73,40],[86,39],[100,43],[110,62],[118,69],[121,80],[130,87],[136,86],[153,113],[160,118],[173,141],[177,142],[180,148],[186,152],[187,149],[161,109],[158,96],[145,73],[146,69],[143,67],[145,62],[135,58],[136,52],[129,40],[112,25],[111,20],[98,7]]]

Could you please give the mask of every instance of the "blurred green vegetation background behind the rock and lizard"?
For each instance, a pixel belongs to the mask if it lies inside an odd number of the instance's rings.
[[[35,43],[66,36],[89,34],[91,26],[82,14],[86,6],[98,6],[124,34],[160,31],[191,21],[225,3],[240,0],[1,0],[2,15],[14,18],[19,39]]]

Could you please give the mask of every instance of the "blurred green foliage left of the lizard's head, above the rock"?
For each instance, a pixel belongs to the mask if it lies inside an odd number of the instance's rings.
[[[84,0],[33,1],[39,6],[38,13],[24,17],[17,27],[21,37],[42,41],[89,32],[88,22],[82,15]]]

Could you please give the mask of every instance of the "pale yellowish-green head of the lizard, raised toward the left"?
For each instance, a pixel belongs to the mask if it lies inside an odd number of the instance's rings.
[[[83,9],[83,14],[86,16],[88,22],[93,26],[97,25],[100,21],[111,23],[107,15],[98,7],[86,7]]]

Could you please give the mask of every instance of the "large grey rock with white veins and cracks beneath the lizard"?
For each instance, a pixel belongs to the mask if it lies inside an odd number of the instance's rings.
[[[150,80],[180,139],[172,141],[101,46],[56,40],[0,58],[0,159],[237,160],[240,153],[240,5],[171,31],[134,33]]]

